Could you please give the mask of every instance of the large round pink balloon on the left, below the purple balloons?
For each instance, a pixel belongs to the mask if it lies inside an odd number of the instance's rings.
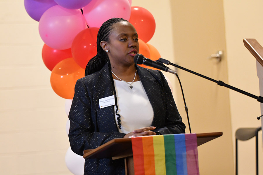
[[[85,27],[85,19],[79,9],[69,10],[60,6],[49,8],[39,20],[42,40],[58,50],[71,48],[73,39]]]

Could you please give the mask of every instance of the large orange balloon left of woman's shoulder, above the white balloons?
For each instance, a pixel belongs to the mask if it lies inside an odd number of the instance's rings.
[[[62,60],[51,72],[51,87],[60,97],[73,99],[76,81],[84,77],[84,73],[85,69],[79,67],[73,58]]]

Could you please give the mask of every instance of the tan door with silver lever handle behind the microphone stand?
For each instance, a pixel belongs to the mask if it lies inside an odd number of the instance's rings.
[[[175,64],[228,83],[222,0],[171,0]],[[209,60],[223,51],[221,62]],[[200,174],[234,174],[229,90],[214,82],[177,69],[192,133],[223,132],[198,147]],[[179,83],[177,106],[187,125]],[[188,126],[186,132],[189,133]]]

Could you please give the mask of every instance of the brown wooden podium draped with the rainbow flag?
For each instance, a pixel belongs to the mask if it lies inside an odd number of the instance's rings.
[[[222,136],[222,132],[211,132],[196,134],[197,146]],[[113,139],[96,149],[84,150],[83,157],[86,158],[110,158],[113,160],[124,158],[125,174],[134,175],[134,164],[131,147],[131,138]]]

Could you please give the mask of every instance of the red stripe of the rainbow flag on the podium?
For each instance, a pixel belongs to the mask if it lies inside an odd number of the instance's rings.
[[[132,137],[131,145],[134,162],[134,175],[145,175],[142,137]]]

